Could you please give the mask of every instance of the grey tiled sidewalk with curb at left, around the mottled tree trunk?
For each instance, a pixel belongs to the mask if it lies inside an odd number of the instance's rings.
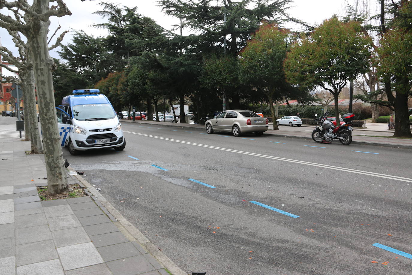
[[[26,151],[29,141],[0,141],[0,274],[187,274],[75,172],[69,183],[89,196],[40,201],[44,155]]]

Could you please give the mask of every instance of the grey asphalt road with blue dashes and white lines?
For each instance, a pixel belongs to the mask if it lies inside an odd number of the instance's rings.
[[[410,150],[123,129],[124,151],[64,157],[187,273],[412,273]]]

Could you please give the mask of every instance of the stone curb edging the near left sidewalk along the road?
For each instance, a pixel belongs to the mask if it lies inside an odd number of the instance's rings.
[[[69,171],[74,171],[76,172],[70,165],[67,167]],[[87,195],[91,197],[96,202],[100,202],[100,204],[109,212],[110,215],[114,217],[115,220],[113,220],[113,223],[119,230],[125,235],[125,237],[130,240],[130,241],[135,241],[138,242],[140,245],[142,245],[147,252],[152,254],[153,257],[159,263],[161,263],[164,268],[169,270],[170,273],[173,275],[187,275],[183,270],[181,270],[171,259],[169,259],[168,256],[166,256],[157,246],[155,246],[150,240],[148,240],[133,224],[131,224],[120,212],[110,203],[108,202],[105,197],[101,193],[99,193],[98,190],[94,186],[92,186],[86,179],[84,179],[82,176],[79,174],[75,175],[70,175],[70,176],[75,176],[75,178],[87,189],[89,192],[87,192]],[[99,205],[99,204],[98,204]],[[103,209],[102,209],[103,210]],[[103,212],[105,212],[103,210]],[[107,214],[107,213],[106,213]],[[109,216],[109,218],[111,218]],[[117,221],[116,221],[117,220]]]

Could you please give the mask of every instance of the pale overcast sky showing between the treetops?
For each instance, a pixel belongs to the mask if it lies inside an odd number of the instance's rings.
[[[178,24],[178,21],[173,17],[168,17],[162,13],[161,7],[158,6],[157,0],[106,0],[107,2],[119,3],[121,6],[134,7],[138,6],[137,12],[144,16],[151,17],[160,26],[171,29],[173,24]],[[362,1],[362,0],[361,0]],[[105,36],[107,34],[104,30],[98,30],[93,27],[89,27],[91,24],[99,24],[105,22],[100,16],[91,14],[97,10],[102,10],[102,7],[98,5],[99,0],[95,1],[80,1],[80,0],[66,0],[64,1],[70,11],[71,16],[64,16],[61,18],[52,17],[52,25],[50,26],[49,36],[54,33],[58,24],[61,25],[61,30],[68,30],[70,28],[80,30],[83,29],[86,33],[94,36]],[[344,9],[346,2],[351,5],[355,5],[356,0],[295,0],[294,6],[289,10],[289,14],[297,19],[306,21],[309,24],[321,23],[324,19],[330,18],[332,14],[344,15]],[[7,14],[5,9],[1,11],[3,14]],[[288,26],[293,28],[293,25]],[[14,44],[7,34],[7,32],[0,28],[0,38],[2,46],[12,49],[15,52]],[[71,43],[70,33],[66,34],[63,44]],[[59,48],[58,48],[59,49]],[[55,51],[50,52],[50,55],[55,58],[59,58],[59,54]]]

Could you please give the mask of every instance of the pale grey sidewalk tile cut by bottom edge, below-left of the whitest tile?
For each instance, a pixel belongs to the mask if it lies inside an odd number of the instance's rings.
[[[59,259],[18,266],[16,275],[64,275]]]

